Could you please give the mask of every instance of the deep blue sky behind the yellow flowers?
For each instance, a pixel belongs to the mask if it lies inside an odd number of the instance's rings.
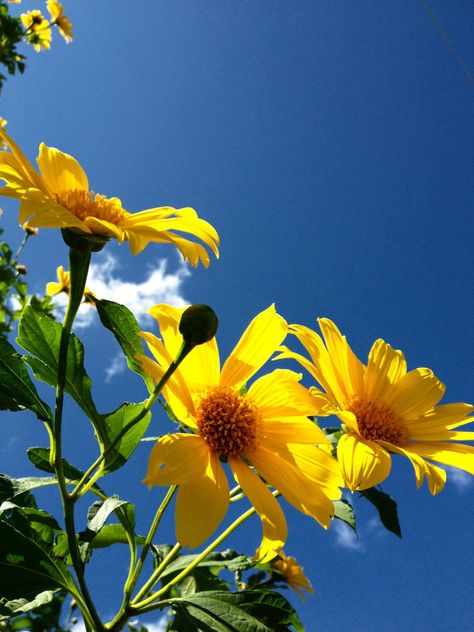
[[[474,68],[472,2],[430,6]],[[474,84],[420,2],[65,0],[65,9],[74,43],[58,36],[50,52],[31,50],[0,115],[30,158],[43,140],[71,153],[94,190],[130,211],[191,205],[217,228],[220,260],[181,289],[219,314],[223,357],[275,302],[289,322],[332,318],[362,359],[382,337],[409,367],[435,371],[446,402],[474,400]],[[3,208],[18,243],[16,207]],[[126,245],[107,250],[135,283],[159,258],[178,266],[171,248],[136,258]],[[67,265],[58,231],[41,231],[24,262],[41,292]],[[103,410],[145,397],[135,376],[105,381],[116,354],[108,333],[93,324],[80,335]],[[94,447],[73,407],[68,425],[66,454],[85,465]],[[150,432],[166,427],[157,411]],[[4,432],[2,470],[32,473],[24,448],[46,445],[42,428],[17,414],[5,416]],[[142,530],[160,498],[140,483],[149,449],[104,481],[136,500]],[[290,596],[306,629],[472,630],[474,486],[450,480],[433,498],[395,460],[383,488],[398,500],[402,540],[357,498],[357,541],[285,505],[286,551],[315,587],[304,605]],[[39,498],[54,507],[50,495]],[[255,521],[231,545],[252,553],[259,537]],[[165,527],[161,541],[171,538]],[[107,570],[91,581],[108,614],[126,560],[103,559]]]

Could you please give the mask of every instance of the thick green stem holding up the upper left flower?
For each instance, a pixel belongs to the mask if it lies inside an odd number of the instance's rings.
[[[56,407],[54,412],[53,443],[50,450],[50,461],[53,465],[58,479],[59,492],[64,512],[64,523],[71,555],[72,564],[76,572],[79,588],[82,593],[81,611],[86,620],[89,621],[92,630],[100,631],[104,629],[103,623],[95,609],[92,598],[89,594],[85,577],[84,564],[81,560],[76,541],[76,527],[74,524],[74,504],[75,500],[68,492],[66,479],[63,470],[62,460],[62,418],[64,408],[64,390],[66,385],[67,355],[69,339],[71,337],[72,325],[77,314],[77,310],[82,301],[84,288],[86,285],[87,272],[91,260],[90,248],[69,250],[69,264],[71,275],[71,292],[69,302],[64,317],[64,324],[61,331],[58,357],[58,379],[56,387]]]

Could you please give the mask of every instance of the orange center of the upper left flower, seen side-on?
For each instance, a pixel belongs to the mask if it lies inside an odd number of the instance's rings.
[[[105,195],[94,193],[94,191],[70,189],[54,193],[54,199],[80,220],[84,220],[86,217],[96,217],[117,225],[120,220],[127,217],[127,212],[120,204],[107,199]]]

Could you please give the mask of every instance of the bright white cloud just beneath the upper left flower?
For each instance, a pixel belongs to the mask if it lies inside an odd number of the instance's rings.
[[[91,264],[87,287],[99,298],[126,305],[137,320],[149,318],[145,311],[156,303],[170,303],[175,307],[186,305],[182,294],[182,283],[191,273],[182,261],[175,272],[167,272],[168,261],[159,259],[148,267],[144,281],[125,281],[117,274],[119,261],[110,253],[103,253],[97,262]],[[54,297],[58,318],[62,319],[67,304],[67,296]],[[96,320],[96,314],[90,305],[82,305],[76,318],[76,327],[90,327]]]

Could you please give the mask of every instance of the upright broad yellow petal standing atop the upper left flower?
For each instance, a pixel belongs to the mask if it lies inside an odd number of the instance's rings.
[[[69,154],[41,143],[36,162],[50,191],[60,193],[75,189],[88,190],[89,183],[84,169]]]

